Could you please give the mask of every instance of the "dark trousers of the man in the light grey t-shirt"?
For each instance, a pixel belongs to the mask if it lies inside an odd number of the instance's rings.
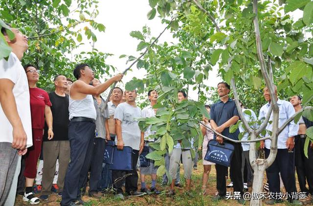
[[[116,189],[117,194],[123,193],[123,190],[122,190],[123,182],[121,180],[123,177],[123,172],[125,172],[126,175],[131,174],[126,177],[126,181],[125,181],[126,193],[130,193],[131,191],[137,191],[138,173],[136,170],[136,165],[138,161],[138,156],[139,156],[139,150],[133,150],[132,152],[133,170],[130,170],[130,171],[112,170],[113,188]]]

